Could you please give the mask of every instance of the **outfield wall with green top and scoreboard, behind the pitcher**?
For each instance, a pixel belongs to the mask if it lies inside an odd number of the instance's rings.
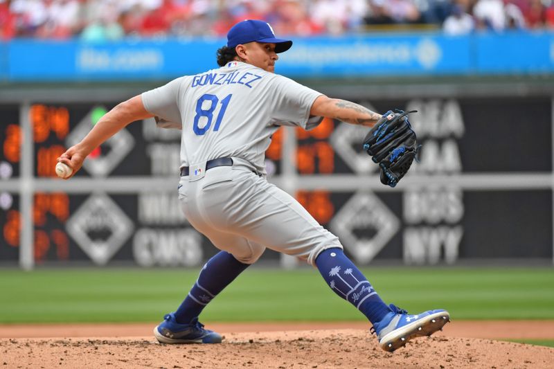
[[[361,265],[551,264],[554,84],[543,73],[304,78],[375,111],[417,109],[422,161],[385,188],[361,150],[366,129],[325,120],[312,132],[274,136],[269,181],[295,195]],[[118,101],[161,83],[145,80],[0,85],[1,265],[196,267],[216,252],[179,209],[179,132],[133,123],[73,179],[55,177],[64,147]],[[262,260],[298,263],[273,252]]]

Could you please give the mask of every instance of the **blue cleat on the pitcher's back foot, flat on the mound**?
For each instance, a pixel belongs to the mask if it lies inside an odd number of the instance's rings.
[[[190,324],[177,323],[175,313],[166,314],[157,327],[154,336],[160,343],[221,343],[222,336],[205,330],[204,324],[195,318]]]

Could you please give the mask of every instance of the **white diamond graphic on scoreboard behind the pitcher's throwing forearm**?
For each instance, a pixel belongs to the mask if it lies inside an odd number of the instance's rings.
[[[79,143],[84,136],[90,132],[91,128],[98,123],[98,120],[107,113],[107,109],[97,105],[80,120],[77,126],[66,138],[67,147]],[[134,146],[134,138],[126,129],[121,129],[118,133],[111,136],[100,147],[96,148],[83,163],[83,168],[93,177],[105,177],[125,156],[129,154]]]

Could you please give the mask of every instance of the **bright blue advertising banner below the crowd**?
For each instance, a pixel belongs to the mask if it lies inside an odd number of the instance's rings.
[[[171,80],[218,68],[222,38],[114,43],[15,39],[0,44],[8,82]],[[554,33],[395,33],[295,37],[277,72],[300,78],[542,75],[554,72]]]

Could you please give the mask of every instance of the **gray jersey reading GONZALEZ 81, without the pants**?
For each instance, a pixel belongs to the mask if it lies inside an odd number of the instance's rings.
[[[310,108],[321,93],[242,62],[186,75],[142,94],[161,127],[183,130],[181,167],[238,157],[265,173],[264,154],[280,125],[311,129]]]

